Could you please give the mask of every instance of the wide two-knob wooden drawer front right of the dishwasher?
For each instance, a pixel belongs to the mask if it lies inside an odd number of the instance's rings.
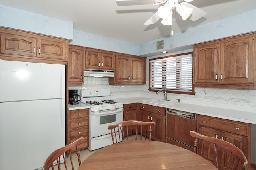
[[[226,119],[198,115],[198,125],[212,127],[239,135],[248,136],[248,124]]]

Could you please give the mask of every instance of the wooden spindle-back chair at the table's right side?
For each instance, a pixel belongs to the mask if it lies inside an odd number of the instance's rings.
[[[195,131],[190,131],[190,135],[196,138],[194,141],[194,152],[196,153],[199,141],[201,147],[198,148],[200,152],[198,154],[206,158],[209,162],[212,162],[219,170],[248,169],[248,161],[244,153],[232,143],[218,138],[204,136]]]

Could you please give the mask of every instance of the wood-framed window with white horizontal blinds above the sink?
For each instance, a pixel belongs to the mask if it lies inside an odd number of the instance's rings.
[[[150,91],[194,94],[192,53],[150,59]]]

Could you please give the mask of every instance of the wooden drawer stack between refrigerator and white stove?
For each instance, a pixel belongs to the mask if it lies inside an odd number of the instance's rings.
[[[67,116],[67,140],[66,145],[74,142],[76,139],[83,137],[84,143],[78,145],[80,150],[88,147],[88,124],[89,109],[78,109],[68,111]],[[71,152],[75,152],[73,148]]]

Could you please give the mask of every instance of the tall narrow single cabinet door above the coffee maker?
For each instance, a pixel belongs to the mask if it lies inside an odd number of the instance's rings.
[[[83,83],[83,61],[84,60],[84,49],[83,47],[69,47],[69,58],[68,58],[68,80],[70,85],[82,85]]]

